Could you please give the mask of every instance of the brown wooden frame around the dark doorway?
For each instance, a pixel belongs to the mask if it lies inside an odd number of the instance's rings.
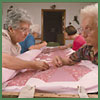
[[[63,29],[66,26],[66,9],[41,9],[41,40],[43,40],[43,16],[44,16],[44,11],[47,12],[63,12],[64,16],[63,16]],[[63,30],[64,33],[64,30]],[[64,38],[64,44],[65,44],[65,38]]]

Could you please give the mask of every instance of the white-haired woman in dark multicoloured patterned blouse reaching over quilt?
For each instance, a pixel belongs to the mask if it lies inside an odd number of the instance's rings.
[[[81,60],[90,60],[98,65],[98,4],[81,9],[80,20],[86,45],[69,57],[55,57],[53,60],[55,66],[73,65]]]

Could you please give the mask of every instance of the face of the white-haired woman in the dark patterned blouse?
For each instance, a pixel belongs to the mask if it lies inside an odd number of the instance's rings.
[[[94,22],[94,19],[84,18],[81,24],[82,35],[86,40],[87,45],[98,45],[98,26]]]

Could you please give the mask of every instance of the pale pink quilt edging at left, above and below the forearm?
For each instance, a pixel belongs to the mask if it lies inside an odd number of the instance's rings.
[[[38,56],[40,53],[41,53],[41,50],[30,50],[30,51],[27,51],[16,57],[18,57],[22,60],[31,61],[31,60],[35,59],[36,56]],[[20,71],[16,71],[16,70],[8,69],[8,68],[2,68],[2,83],[8,81],[9,79],[12,79],[19,72],[24,72],[26,70],[27,69],[22,69]]]

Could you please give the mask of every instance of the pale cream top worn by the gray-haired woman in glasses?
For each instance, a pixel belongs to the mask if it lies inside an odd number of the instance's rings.
[[[15,45],[12,43],[8,31],[2,30],[2,52],[16,56],[20,54],[20,50],[21,47],[18,43]]]

